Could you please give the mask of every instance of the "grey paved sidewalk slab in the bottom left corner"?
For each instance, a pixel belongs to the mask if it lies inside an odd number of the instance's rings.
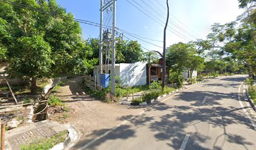
[[[6,131],[6,150],[18,150],[21,145],[30,144],[35,140],[50,138],[51,136],[65,131],[68,126],[53,121],[41,121],[38,123],[21,126]]]

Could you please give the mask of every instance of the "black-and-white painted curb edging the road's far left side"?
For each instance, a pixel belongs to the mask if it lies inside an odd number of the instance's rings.
[[[205,80],[204,80],[204,81],[200,81],[200,82],[198,82],[198,83],[191,84],[191,85],[189,85],[189,87],[195,86],[195,85],[198,85],[198,84],[201,84],[201,83],[205,83]],[[164,97],[166,97],[166,96],[168,96],[168,95],[170,95],[170,94],[177,93],[178,91],[181,91],[181,90],[183,90],[183,89],[184,89],[184,88],[176,89],[176,90],[174,90],[174,91],[172,91],[172,92],[170,92],[170,93],[163,94],[163,95],[161,95],[161,96],[158,96],[158,97],[155,98],[155,99],[147,100],[146,102],[142,102],[142,103],[132,103],[131,101],[130,101],[130,102],[129,102],[129,101],[123,101],[121,104],[123,104],[123,105],[130,105],[130,106],[145,106],[145,105],[147,105],[147,104],[153,103],[154,101],[157,101],[158,99],[164,98]]]

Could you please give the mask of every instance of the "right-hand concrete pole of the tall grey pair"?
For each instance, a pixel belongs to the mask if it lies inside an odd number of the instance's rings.
[[[113,0],[111,94],[115,94],[115,0]]]

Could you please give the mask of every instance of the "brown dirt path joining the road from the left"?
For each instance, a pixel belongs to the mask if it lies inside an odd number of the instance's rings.
[[[72,78],[56,93],[68,108],[72,108],[70,117],[65,119],[64,123],[70,123],[80,131],[80,141],[74,149],[87,144],[145,108],[102,103],[90,98],[86,91],[82,90],[81,83],[82,77]]]

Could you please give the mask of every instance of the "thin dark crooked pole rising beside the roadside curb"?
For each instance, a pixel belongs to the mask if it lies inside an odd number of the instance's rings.
[[[168,0],[166,0],[167,4],[167,19],[166,19],[166,26],[164,27],[164,47],[163,47],[163,83],[162,83],[162,91],[164,91],[165,86],[165,76],[166,76],[166,28],[168,26],[169,21],[169,5]]]

